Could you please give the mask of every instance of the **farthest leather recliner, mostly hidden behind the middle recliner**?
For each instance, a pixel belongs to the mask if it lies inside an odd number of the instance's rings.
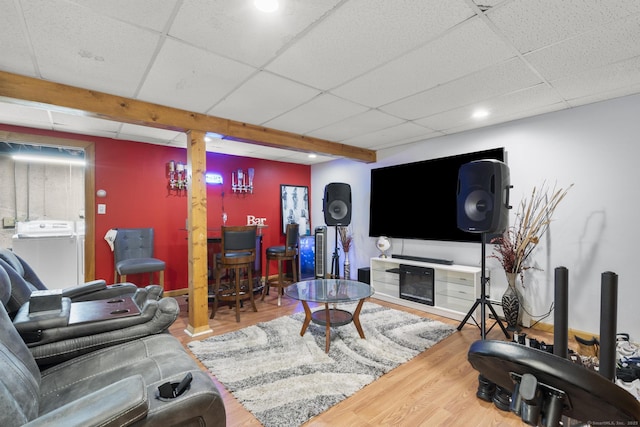
[[[48,289],[29,264],[9,249],[0,248],[0,266],[4,267],[11,276],[11,297],[5,304],[11,317],[29,301],[33,291]],[[65,288],[62,290],[62,295],[72,301],[92,301],[133,295],[137,289],[138,287],[133,283],[107,285],[104,280],[100,279]],[[147,290],[147,298],[157,300],[162,296],[162,286],[148,285],[145,289]]]

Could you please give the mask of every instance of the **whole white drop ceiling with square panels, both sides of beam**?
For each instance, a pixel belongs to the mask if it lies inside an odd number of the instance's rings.
[[[253,3],[0,0],[0,70],[372,150],[640,92],[637,0]],[[0,122],[186,146],[179,132],[7,98]]]

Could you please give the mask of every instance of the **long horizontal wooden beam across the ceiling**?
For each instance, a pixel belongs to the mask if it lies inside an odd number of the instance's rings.
[[[372,163],[373,150],[0,71],[0,97],[23,105]]]

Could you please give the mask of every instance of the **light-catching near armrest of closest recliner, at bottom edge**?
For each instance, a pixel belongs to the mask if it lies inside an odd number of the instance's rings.
[[[67,403],[25,426],[128,426],[144,419],[148,411],[144,380],[141,375],[134,375]]]

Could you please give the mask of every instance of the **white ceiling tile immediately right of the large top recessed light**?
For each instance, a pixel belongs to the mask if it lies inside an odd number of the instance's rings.
[[[463,1],[351,0],[266,69],[328,90],[415,49],[473,15]]]

